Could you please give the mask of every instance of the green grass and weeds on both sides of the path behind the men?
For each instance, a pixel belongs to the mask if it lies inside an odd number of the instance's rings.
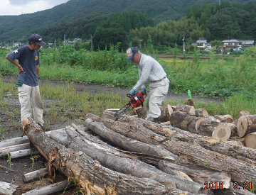
[[[138,69],[136,65],[126,62],[126,55],[119,53],[118,48],[117,44],[110,51],[98,52],[76,51],[71,47],[43,49],[40,78],[131,88],[139,79]],[[147,48],[144,50],[146,52]],[[142,52],[144,50],[142,48]],[[206,108],[210,115],[230,114],[236,118],[242,110],[256,113],[255,59],[249,55],[254,50],[255,48],[250,48],[235,58],[210,55],[210,59],[201,60],[195,49],[192,59],[159,62],[171,81],[170,91],[179,94],[190,89],[192,97],[193,94],[201,94],[222,98],[222,104],[196,102],[195,107]],[[0,71],[2,75],[17,75],[18,69],[7,60],[1,59]],[[6,91],[16,94],[15,84],[1,84],[0,95],[3,96]],[[70,84],[66,87],[53,87],[50,83],[43,85],[41,96],[42,99],[53,99],[48,105],[49,111],[45,111],[50,118],[49,123],[58,120],[58,117],[67,121],[70,116],[79,118],[90,112],[100,115],[107,108],[120,108],[127,103],[127,99],[122,99],[118,94],[93,95],[86,91],[75,93],[75,87]],[[175,105],[178,102],[170,104]],[[3,99],[0,106],[1,111],[9,113],[11,118],[18,117],[18,111],[8,111],[8,105]],[[59,112],[56,107],[65,112]]]

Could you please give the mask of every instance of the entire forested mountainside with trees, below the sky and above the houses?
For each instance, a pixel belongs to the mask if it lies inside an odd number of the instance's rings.
[[[167,46],[180,43],[182,35],[189,41],[256,38],[255,2],[221,0],[218,6],[219,0],[70,0],[45,11],[0,16],[0,43],[26,43],[31,33],[41,34],[46,42],[63,40],[64,35],[84,40],[96,32],[98,38],[107,36],[102,30],[122,38],[124,32],[130,34],[129,41],[151,39],[154,45]],[[104,46],[103,38],[96,42]]]

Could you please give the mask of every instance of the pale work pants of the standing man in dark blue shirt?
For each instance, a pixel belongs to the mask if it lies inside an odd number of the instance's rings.
[[[43,103],[39,86],[30,87],[22,84],[21,87],[18,87],[18,100],[21,104],[21,121],[28,117],[34,117],[33,120],[43,125]]]

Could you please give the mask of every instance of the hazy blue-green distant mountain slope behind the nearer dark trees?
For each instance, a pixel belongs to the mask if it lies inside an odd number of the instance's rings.
[[[246,4],[249,0],[240,0]],[[256,1],[256,0],[254,0]],[[145,13],[156,22],[176,19],[186,14],[188,7],[207,2],[218,4],[218,0],[70,0],[45,11],[22,14],[19,16],[0,16],[0,42],[14,40],[24,41],[28,35],[38,31],[38,28],[48,28],[57,23],[73,21],[90,16],[94,13],[116,13],[135,11]],[[230,0],[231,3],[238,2]]]

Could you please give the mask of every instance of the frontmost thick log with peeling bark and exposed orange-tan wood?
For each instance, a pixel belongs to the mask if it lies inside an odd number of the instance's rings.
[[[153,179],[131,177],[100,165],[84,152],[75,152],[48,138],[32,118],[21,127],[38,151],[69,179],[75,179],[87,194],[166,194],[169,189]],[[173,191],[176,191],[173,189]],[[180,192],[180,191],[179,191]]]

